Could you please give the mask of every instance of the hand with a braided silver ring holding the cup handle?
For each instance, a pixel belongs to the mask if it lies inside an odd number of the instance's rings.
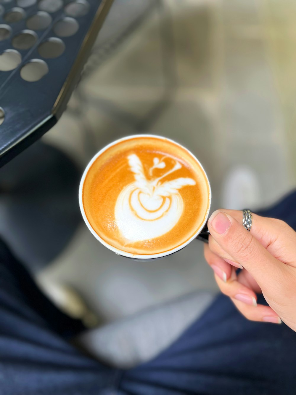
[[[217,210],[208,220],[206,261],[222,293],[253,321],[285,322],[296,331],[296,232],[285,222],[253,215],[251,231],[242,211]],[[243,267],[236,275],[236,267]],[[263,293],[269,306],[257,305]]]

